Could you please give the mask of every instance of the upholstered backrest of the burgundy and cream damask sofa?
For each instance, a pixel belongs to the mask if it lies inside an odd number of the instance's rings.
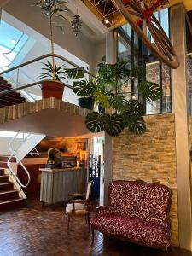
[[[156,183],[114,181],[108,187],[114,213],[164,223],[172,203],[171,189]]]

